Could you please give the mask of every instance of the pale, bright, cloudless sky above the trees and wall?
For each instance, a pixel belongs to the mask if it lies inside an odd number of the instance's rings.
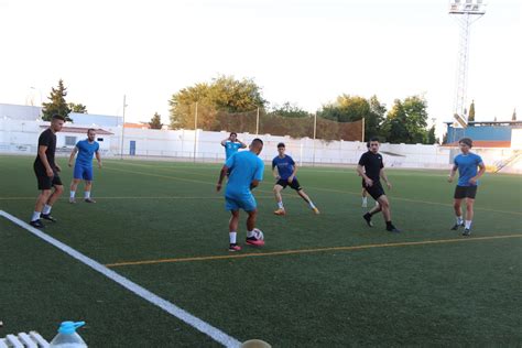
[[[471,25],[467,105],[522,117],[522,1]],[[168,99],[218,75],[314,112],[341,94],[421,95],[454,111],[459,28],[447,0],[0,0],[0,104],[40,105],[63,79],[89,113],[168,123]]]

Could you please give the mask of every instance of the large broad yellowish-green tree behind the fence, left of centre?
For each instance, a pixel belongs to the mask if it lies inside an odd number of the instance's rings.
[[[197,127],[207,130],[219,130],[218,112],[244,112],[263,108],[267,101],[262,98],[261,88],[252,79],[235,79],[232,76],[218,76],[210,84],[196,84],[181,89],[168,100],[171,106],[171,127],[194,128],[195,106]]]

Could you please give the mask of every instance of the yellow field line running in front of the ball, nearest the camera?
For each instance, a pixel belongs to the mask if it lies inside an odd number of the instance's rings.
[[[362,250],[362,249],[372,249],[372,248],[393,248],[393,247],[409,247],[409,246],[456,243],[456,242],[468,242],[468,241],[491,240],[491,239],[507,239],[507,238],[522,238],[522,235],[472,237],[472,238],[460,238],[460,239],[422,240],[422,241],[409,241],[409,242],[399,242],[399,243],[379,243],[379,244],[362,244],[362,246],[351,246],[351,247],[329,247],[329,248],[316,248],[316,249],[282,250],[282,251],[255,252],[255,253],[235,253],[235,254],[211,255],[211,257],[192,257],[192,258],[176,258],[176,259],[128,261],[128,262],[108,263],[108,264],[106,264],[106,267],[117,268],[117,267],[124,267],[124,265],[141,265],[141,264],[156,264],[156,263],[230,260],[230,259],[244,259],[244,258],[261,258],[261,257],[273,257],[273,255],[316,253],[316,252],[326,252],[326,251],[351,251],[351,250]]]

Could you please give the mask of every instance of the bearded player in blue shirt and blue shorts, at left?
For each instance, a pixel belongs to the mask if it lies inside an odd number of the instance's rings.
[[[100,145],[95,140],[96,139],[96,130],[90,128],[87,130],[87,139],[80,140],[76,143],[76,146],[73,149],[73,152],[69,156],[69,166],[73,166],[73,160],[76,153],[78,156],[76,157],[76,162],[74,165],[74,175],[73,182],[70,183],[70,196],[69,203],[76,203],[76,188],[81,180],[85,181],[85,192],[84,192],[84,199],[86,203],[96,203],[90,197],[90,191],[93,188],[93,155],[96,155],[96,160],[98,161],[98,167],[101,170],[101,157],[100,157]]]

